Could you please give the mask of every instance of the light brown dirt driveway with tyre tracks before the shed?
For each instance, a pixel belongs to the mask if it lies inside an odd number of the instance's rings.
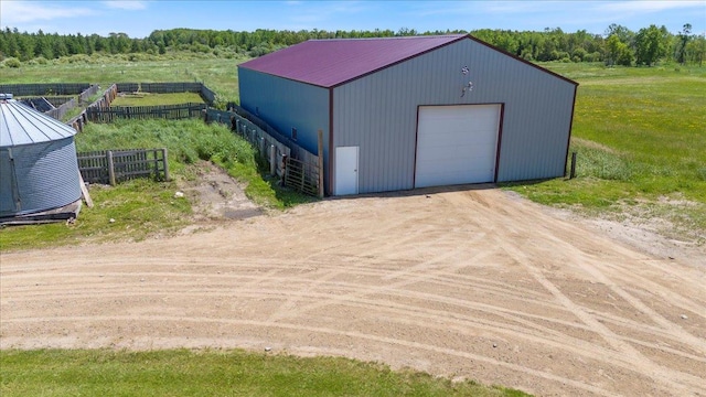
[[[499,190],[2,254],[0,276],[2,348],[271,347],[537,395],[706,396],[706,267]]]

